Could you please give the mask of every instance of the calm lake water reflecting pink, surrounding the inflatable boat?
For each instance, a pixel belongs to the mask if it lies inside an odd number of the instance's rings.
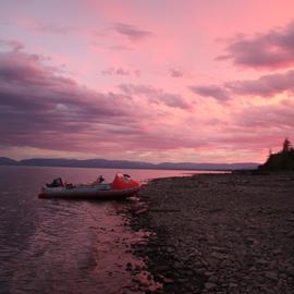
[[[87,183],[118,170],[0,167],[0,293],[130,293],[126,264],[138,240],[118,211],[127,201],[39,199],[41,186],[62,176]],[[121,170],[136,180],[191,171]],[[135,292],[132,292],[135,293]],[[139,293],[139,292],[137,292]]]

